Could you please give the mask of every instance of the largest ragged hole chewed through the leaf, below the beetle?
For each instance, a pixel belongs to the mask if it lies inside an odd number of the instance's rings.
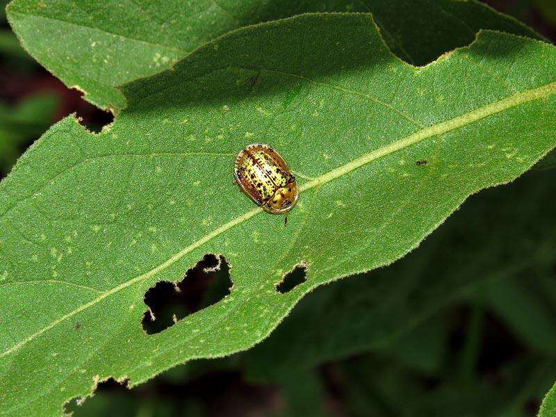
[[[229,265],[206,254],[178,283],[161,281],[145,293],[149,307],[142,319],[147,334],[162,332],[182,318],[216,304],[230,293]]]

